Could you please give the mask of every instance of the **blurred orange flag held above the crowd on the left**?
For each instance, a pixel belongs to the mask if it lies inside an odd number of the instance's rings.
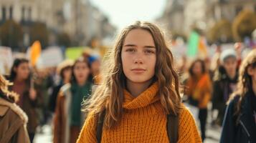
[[[40,41],[34,41],[30,49],[30,61],[32,66],[37,64],[37,60],[41,54],[41,44]]]

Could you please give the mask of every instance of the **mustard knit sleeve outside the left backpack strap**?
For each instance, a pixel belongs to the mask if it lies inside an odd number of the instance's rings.
[[[97,143],[96,139],[96,124],[97,119],[93,114],[88,114],[85,123],[82,127],[77,143]]]

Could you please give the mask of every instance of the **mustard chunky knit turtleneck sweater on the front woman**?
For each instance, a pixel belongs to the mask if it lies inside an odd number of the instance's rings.
[[[166,114],[163,112],[157,84],[153,84],[138,97],[126,90],[123,102],[123,117],[114,129],[103,128],[101,142],[169,142],[166,129]],[[94,116],[88,116],[78,143],[96,143],[96,124]],[[202,142],[194,118],[184,105],[179,115],[179,143]]]

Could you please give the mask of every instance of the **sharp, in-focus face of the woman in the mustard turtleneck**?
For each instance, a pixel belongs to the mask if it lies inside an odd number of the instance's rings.
[[[150,81],[156,66],[156,46],[151,34],[143,29],[131,30],[123,42],[121,59],[128,82]]]

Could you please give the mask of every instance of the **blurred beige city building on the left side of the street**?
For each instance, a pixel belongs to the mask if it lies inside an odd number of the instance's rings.
[[[108,16],[88,0],[1,0],[0,27],[6,21],[22,27],[22,42],[18,42],[22,47],[31,45],[34,37],[44,33],[42,29],[47,30],[46,36],[41,36],[45,39],[41,40],[43,46],[62,46],[67,41],[76,46],[90,45],[93,39],[112,37],[116,30]],[[6,29],[7,33],[11,30]]]

